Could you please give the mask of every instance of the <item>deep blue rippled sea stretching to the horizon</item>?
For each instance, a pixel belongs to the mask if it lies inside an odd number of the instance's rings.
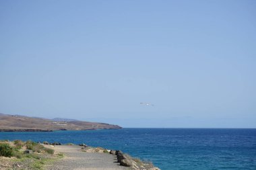
[[[256,129],[123,128],[0,132],[0,139],[84,142],[152,161],[162,170],[256,169]]]

